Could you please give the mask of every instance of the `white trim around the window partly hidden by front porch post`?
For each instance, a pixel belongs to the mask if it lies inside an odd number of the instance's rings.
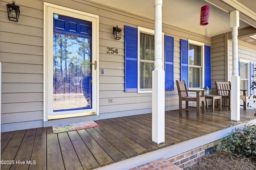
[[[138,93],[152,93],[152,90],[140,90],[140,33],[155,35],[155,30],[138,26]],[[162,68],[164,69],[164,33],[162,32]]]

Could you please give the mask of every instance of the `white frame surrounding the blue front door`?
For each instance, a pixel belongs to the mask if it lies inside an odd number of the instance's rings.
[[[87,12],[82,12],[78,10],[74,10],[71,8],[66,8],[63,6],[58,6],[55,4],[50,4],[44,2],[44,121],[48,121],[48,109],[50,104],[50,98],[52,98],[52,94],[49,93],[52,80],[48,79],[48,75],[52,73],[52,63],[48,61],[48,57],[51,56],[49,51],[52,51],[53,47],[53,11],[54,13],[72,16],[78,19],[91,21],[93,24],[94,29],[92,29],[92,36],[94,37],[95,43],[92,44],[92,55],[94,56],[94,60],[97,61],[99,59],[99,16],[94,14],[89,14]],[[92,109],[92,113],[96,111],[97,115],[99,114],[99,77],[98,77],[98,69],[96,70],[96,75],[92,81],[96,82],[96,93],[93,94],[93,102],[96,102],[96,108]],[[48,85],[49,84],[49,85]],[[49,95],[50,94],[50,95]],[[89,109],[88,109],[89,111]],[[61,112],[59,113],[61,114]],[[67,118],[67,117],[76,117],[76,116],[83,116],[83,115],[90,115],[90,113],[81,113],[81,111],[77,111],[65,116],[55,116],[56,118]]]

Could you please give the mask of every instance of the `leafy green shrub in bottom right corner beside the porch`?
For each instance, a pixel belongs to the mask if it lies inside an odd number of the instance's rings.
[[[220,148],[225,152],[256,161],[256,125],[235,128]]]

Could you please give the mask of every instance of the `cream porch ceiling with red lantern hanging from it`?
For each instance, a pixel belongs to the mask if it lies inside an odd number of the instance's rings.
[[[131,12],[133,14],[144,16],[150,19],[154,19],[154,0],[92,1],[105,4],[107,6],[111,6],[127,12]],[[227,5],[229,1],[230,0],[163,0],[162,22],[178,28],[182,28],[184,30],[190,30],[192,32],[205,35],[208,37],[216,36],[225,32],[230,32],[231,28],[229,12],[235,10],[237,6]],[[236,1],[235,3],[242,4],[243,9],[245,9],[245,11],[248,10],[248,8],[253,8],[253,6],[256,6],[254,0],[239,0],[239,2]],[[210,6],[210,19],[209,24],[207,26],[200,26],[200,9],[204,5]],[[250,12],[252,16],[256,14],[255,9],[254,11],[253,9],[250,10]],[[249,22],[249,20],[252,19],[248,19],[248,16],[246,14],[241,13],[241,16],[243,18],[246,18],[247,20],[241,20],[240,17],[239,29],[248,27],[250,25],[253,26],[253,22],[255,22],[256,18],[254,18],[252,22]],[[253,44],[254,42],[248,43]],[[256,43],[254,45],[256,45]]]

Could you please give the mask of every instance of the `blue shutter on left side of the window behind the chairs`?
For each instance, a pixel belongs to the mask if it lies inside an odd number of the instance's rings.
[[[188,41],[180,39],[180,81],[188,84]]]

